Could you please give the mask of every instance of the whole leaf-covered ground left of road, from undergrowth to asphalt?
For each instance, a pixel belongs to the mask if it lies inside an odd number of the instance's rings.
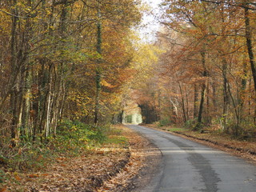
[[[7,172],[10,179],[0,191],[132,190],[137,187],[134,178],[140,177],[139,170],[149,158],[154,163],[152,159],[158,156],[158,150],[125,126],[118,126],[118,129],[122,130],[118,137],[127,138],[128,145],[109,142],[82,156],[60,156],[38,172]]]

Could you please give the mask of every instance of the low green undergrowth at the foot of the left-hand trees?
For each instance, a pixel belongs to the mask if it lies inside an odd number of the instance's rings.
[[[8,173],[43,170],[60,156],[75,157],[90,154],[90,150],[102,145],[127,145],[121,130],[69,120],[59,124],[55,137],[44,140],[46,142],[43,143],[20,141],[15,147],[10,145],[10,141],[7,142],[7,138],[6,141],[1,141],[0,186],[10,179]]]

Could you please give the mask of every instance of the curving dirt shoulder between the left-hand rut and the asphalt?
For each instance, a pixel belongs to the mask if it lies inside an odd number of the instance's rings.
[[[130,162],[114,178],[105,182],[98,192],[141,191],[150,182],[161,161],[162,154],[154,144],[140,134],[122,126],[130,143]]]

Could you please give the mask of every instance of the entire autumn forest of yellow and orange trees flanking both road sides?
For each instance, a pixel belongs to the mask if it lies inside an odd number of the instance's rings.
[[[10,167],[29,167],[31,151],[36,161],[102,143],[128,110],[146,124],[255,141],[256,3],[158,9],[146,41],[144,1],[0,1],[0,183]]]

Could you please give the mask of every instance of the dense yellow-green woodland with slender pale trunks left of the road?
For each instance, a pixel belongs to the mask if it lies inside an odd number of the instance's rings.
[[[1,137],[15,146],[56,136],[64,119],[110,122],[135,74],[131,29],[142,18],[139,4],[1,1]]]

